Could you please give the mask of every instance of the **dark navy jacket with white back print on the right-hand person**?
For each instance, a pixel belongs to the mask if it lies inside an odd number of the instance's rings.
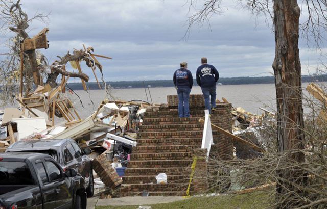
[[[213,65],[204,64],[196,70],[196,83],[200,87],[212,87],[216,85],[219,73]]]

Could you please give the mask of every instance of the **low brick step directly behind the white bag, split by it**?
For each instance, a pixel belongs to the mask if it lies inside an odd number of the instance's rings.
[[[123,176],[123,184],[157,184],[156,175]],[[167,175],[168,183],[188,183],[189,175]]]

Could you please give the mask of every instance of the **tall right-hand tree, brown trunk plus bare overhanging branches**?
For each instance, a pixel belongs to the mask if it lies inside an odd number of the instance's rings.
[[[194,6],[196,2],[191,1]],[[221,13],[222,0],[204,1],[203,7],[189,18],[191,25],[209,21],[213,14]],[[243,6],[253,14],[271,17],[275,33],[275,59],[272,64],[275,75],[277,100],[277,140],[278,151],[288,151],[288,159],[296,163],[305,162],[303,150],[303,108],[301,88],[301,64],[299,58],[299,29],[308,38],[313,35],[316,46],[321,41],[320,31],[324,31],[327,22],[327,1],[303,1],[309,13],[306,22],[300,24],[301,14],[297,0],[240,0]],[[273,14],[272,12],[273,11]],[[324,29],[324,30],[321,30]],[[307,184],[307,175],[298,167],[277,170],[277,202],[279,208],[292,208],[304,204],[306,200],[299,187]],[[294,187],[294,184],[299,187]]]

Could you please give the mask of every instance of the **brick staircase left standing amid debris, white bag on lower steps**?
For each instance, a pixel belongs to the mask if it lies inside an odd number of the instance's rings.
[[[200,96],[202,95],[198,97]],[[230,104],[220,105],[216,113],[212,114],[213,123],[222,125],[227,120],[230,121],[228,105],[230,106]],[[194,104],[192,106],[191,103],[190,110],[192,118],[178,118],[176,106],[147,110],[137,134],[138,145],[132,148],[128,168],[123,176],[122,196],[142,195],[144,190],[151,196],[185,195],[193,156],[200,158],[197,161],[191,193],[203,192],[208,188],[205,177],[206,162],[203,158],[205,150],[201,149],[203,124],[198,122],[199,118],[204,116],[204,107]],[[228,124],[230,126],[230,122]],[[226,127],[226,124],[223,127]],[[214,138],[223,138],[216,131],[213,131],[213,135]],[[222,141],[226,140],[222,139]],[[231,143],[222,144],[223,146],[219,146],[219,143],[214,145],[218,147],[212,148],[212,153],[232,154]],[[155,176],[159,173],[167,174],[168,184],[156,184]]]

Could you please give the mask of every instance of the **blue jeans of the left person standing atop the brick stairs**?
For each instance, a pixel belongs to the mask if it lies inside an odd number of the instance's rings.
[[[190,92],[191,89],[188,87],[178,87],[177,95],[178,95],[178,115],[180,118],[190,117]]]

